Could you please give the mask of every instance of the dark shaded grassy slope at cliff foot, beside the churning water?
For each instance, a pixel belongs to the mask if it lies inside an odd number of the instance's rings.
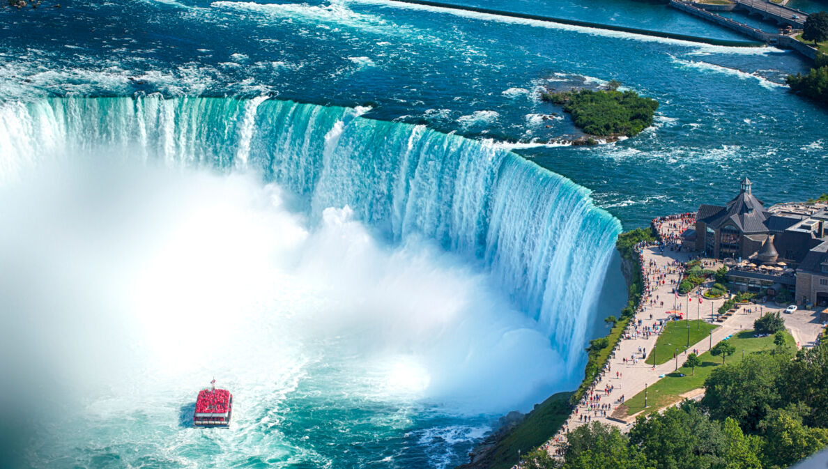
[[[525,420],[498,442],[489,459],[491,469],[508,469],[517,462],[517,450],[523,454],[545,443],[569,417],[572,393],[552,394],[537,404]]]

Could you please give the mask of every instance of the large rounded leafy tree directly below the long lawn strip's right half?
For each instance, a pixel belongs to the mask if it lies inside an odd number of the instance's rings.
[[[711,418],[734,418],[745,432],[753,432],[768,409],[781,402],[780,389],[787,355],[753,354],[720,366],[705,380],[700,405]]]

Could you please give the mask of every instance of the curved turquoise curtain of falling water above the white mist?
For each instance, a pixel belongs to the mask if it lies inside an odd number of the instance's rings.
[[[0,183],[41,160],[98,152],[257,171],[310,220],[349,205],[390,242],[434,239],[486,269],[571,371],[619,221],[589,191],[489,141],[276,99],[52,98],[0,107]]]

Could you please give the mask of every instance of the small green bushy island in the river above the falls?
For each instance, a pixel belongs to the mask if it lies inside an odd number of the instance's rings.
[[[643,98],[635,91],[619,91],[618,81],[610,81],[607,89],[546,90],[541,99],[563,104],[575,126],[595,137],[633,137],[652,125],[658,101]]]

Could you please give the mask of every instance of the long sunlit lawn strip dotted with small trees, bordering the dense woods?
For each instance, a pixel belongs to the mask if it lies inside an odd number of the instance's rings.
[[[785,331],[785,339],[787,340],[788,350],[796,350],[797,342],[793,337]],[[773,336],[768,337],[753,337],[753,331],[742,331],[730,339],[730,344],[736,347],[736,353],[730,355],[725,359],[726,364],[739,363],[742,361],[742,351],[745,354],[756,353],[761,351],[772,351],[776,348],[773,345]],[[717,366],[722,365],[721,356],[710,355],[710,352],[705,352],[699,356],[701,366],[696,367],[696,375],[690,368],[684,366],[679,367],[678,371],[666,375],[661,380],[647,387],[647,409],[644,409],[644,392],[634,395],[627,399],[624,403],[628,409],[627,414],[644,410],[643,415],[662,409],[663,407],[674,404],[681,400],[681,394],[684,394],[693,389],[698,389],[705,384],[705,379],[710,373],[715,370]],[[679,357],[679,364],[683,364],[687,360],[686,355]],[[679,376],[683,373],[686,376]],[[657,380],[657,376],[653,376],[653,380]]]

